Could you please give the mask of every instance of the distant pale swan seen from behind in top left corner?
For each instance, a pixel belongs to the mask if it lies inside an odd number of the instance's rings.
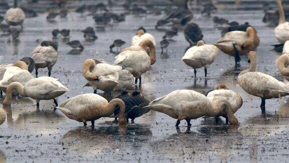
[[[22,9],[18,8],[17,5],[17,0],[14,0],[14,8],[7,10],[4,18],[9,25],[21,25],[21,27],[23,27],[22,24],[25,20],[25,13]]]

